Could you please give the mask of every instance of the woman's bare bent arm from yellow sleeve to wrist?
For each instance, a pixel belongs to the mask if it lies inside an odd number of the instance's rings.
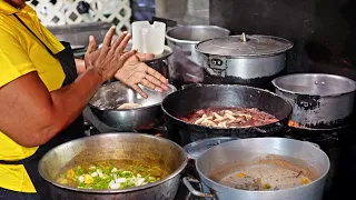
[[[23,147],[46,143],[67,128],[102,83],[95,69],[61,89],[48,92],[37,72],[0,88],[0,130]]]

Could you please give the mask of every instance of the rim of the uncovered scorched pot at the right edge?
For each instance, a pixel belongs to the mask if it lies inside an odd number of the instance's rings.
[[[335,93],[330,93],[330,94],[310,94],[307,92],[296,92],[293,90],[288,90],[285,89],[280,86],[278,86],[277,81],[280,79],[285,79],[288,77],[299,77],[299,76],[325,76],[325,77],[334,77],[334,78],[338,78],[338,79],[343,79],[345,81],[348,81],[350,83],[353,83],[352,88],[349,90],[346,90],[344,92],[335,92]],[[338,76],[338,74],[329,74],[329,73],[291,73],[291,74],[286,74],[286,76],[281,76],[281,77],[277,77],[274,80],[271,80],[271,83],[274,84],[274,87],[283,92],[286,93],[291,93],[291,94],[300,94],[300,96],[310,96],[310,97],[338,97],[338,96],[343,96],[343,94],[348,94],[348,93],[353,93],[356,91],[356,82],[347,77],[343,77],[343,76]]]

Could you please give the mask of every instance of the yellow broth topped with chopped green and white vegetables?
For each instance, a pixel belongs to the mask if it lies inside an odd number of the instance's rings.
[[[109,160],[82,163],[62,172],[57,182],[81,189],[125,189],[156,182],[168,176],[156,166]]]

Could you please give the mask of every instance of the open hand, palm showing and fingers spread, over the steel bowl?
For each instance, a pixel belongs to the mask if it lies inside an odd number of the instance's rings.
[[[150,60],[154,54],[150,53],[137,53],[131,56],[123,67],[118,70],[115,78],[119,81],[131,87],[144,98],[147,98],[147,93],[138,86],[138,83],[157,91],[168,90],[168,80],[158,71],[148,67],[144,60]]]

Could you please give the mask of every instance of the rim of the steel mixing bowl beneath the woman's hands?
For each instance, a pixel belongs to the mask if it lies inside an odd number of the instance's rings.
[[[118,83],[118,82],[120,82],[120,81],[109,82],[109,83],[102,84],[101,87],[115,84],[115,83]],[[120,82],[120,83],[121,83],[121,84],[125,84],[125,83],[122,83],[122,82]],[[101,87],[100,87],[100,88],[101,88]],[[169,91],[169,93],[168,93],[167,96],[169,96],[170,93],[177,91],[177,88],[176,88],[175,86],[170,84],[170,83],[168,84],[168,88],[170,89],[170,91]],[[149,89],[149,88],[147,88],[147,89],[148,89],[148,90],[151,90],[151,89]],[[154,90],[152,90],[152,91],[154,91]],[[136,92],[136,91],[135,91],[135,92]],[[157,92],[158,92],[158,91],[157,91]],[[167,91],[167,92],[168,92],[168,91]],[[166,97],[167,97],[167,96],[166,96]],[[162,98],[160,102],[155,103],[155,104],[150,104],[150,106],[147,106],[147,107],[139,107],[139,108],[131,108],[131,109],[120,109],[120,110],[119,110],[119,109],[99,108],[99,107],[96,107],[96,106],[93,106],[92,103],[90,103],[90,101],[89,101],[89,103],[88,103],[88,107],[91,108],[91,109],[100,110],[100,111],[131,112],[131,111],[141,111],[141,110],[147,110],[147,109],[150,109],[150,108],[154,108],[154,107],[159,107],[159,106],[162,103],[164,99],[165,99],[165,98]]]

